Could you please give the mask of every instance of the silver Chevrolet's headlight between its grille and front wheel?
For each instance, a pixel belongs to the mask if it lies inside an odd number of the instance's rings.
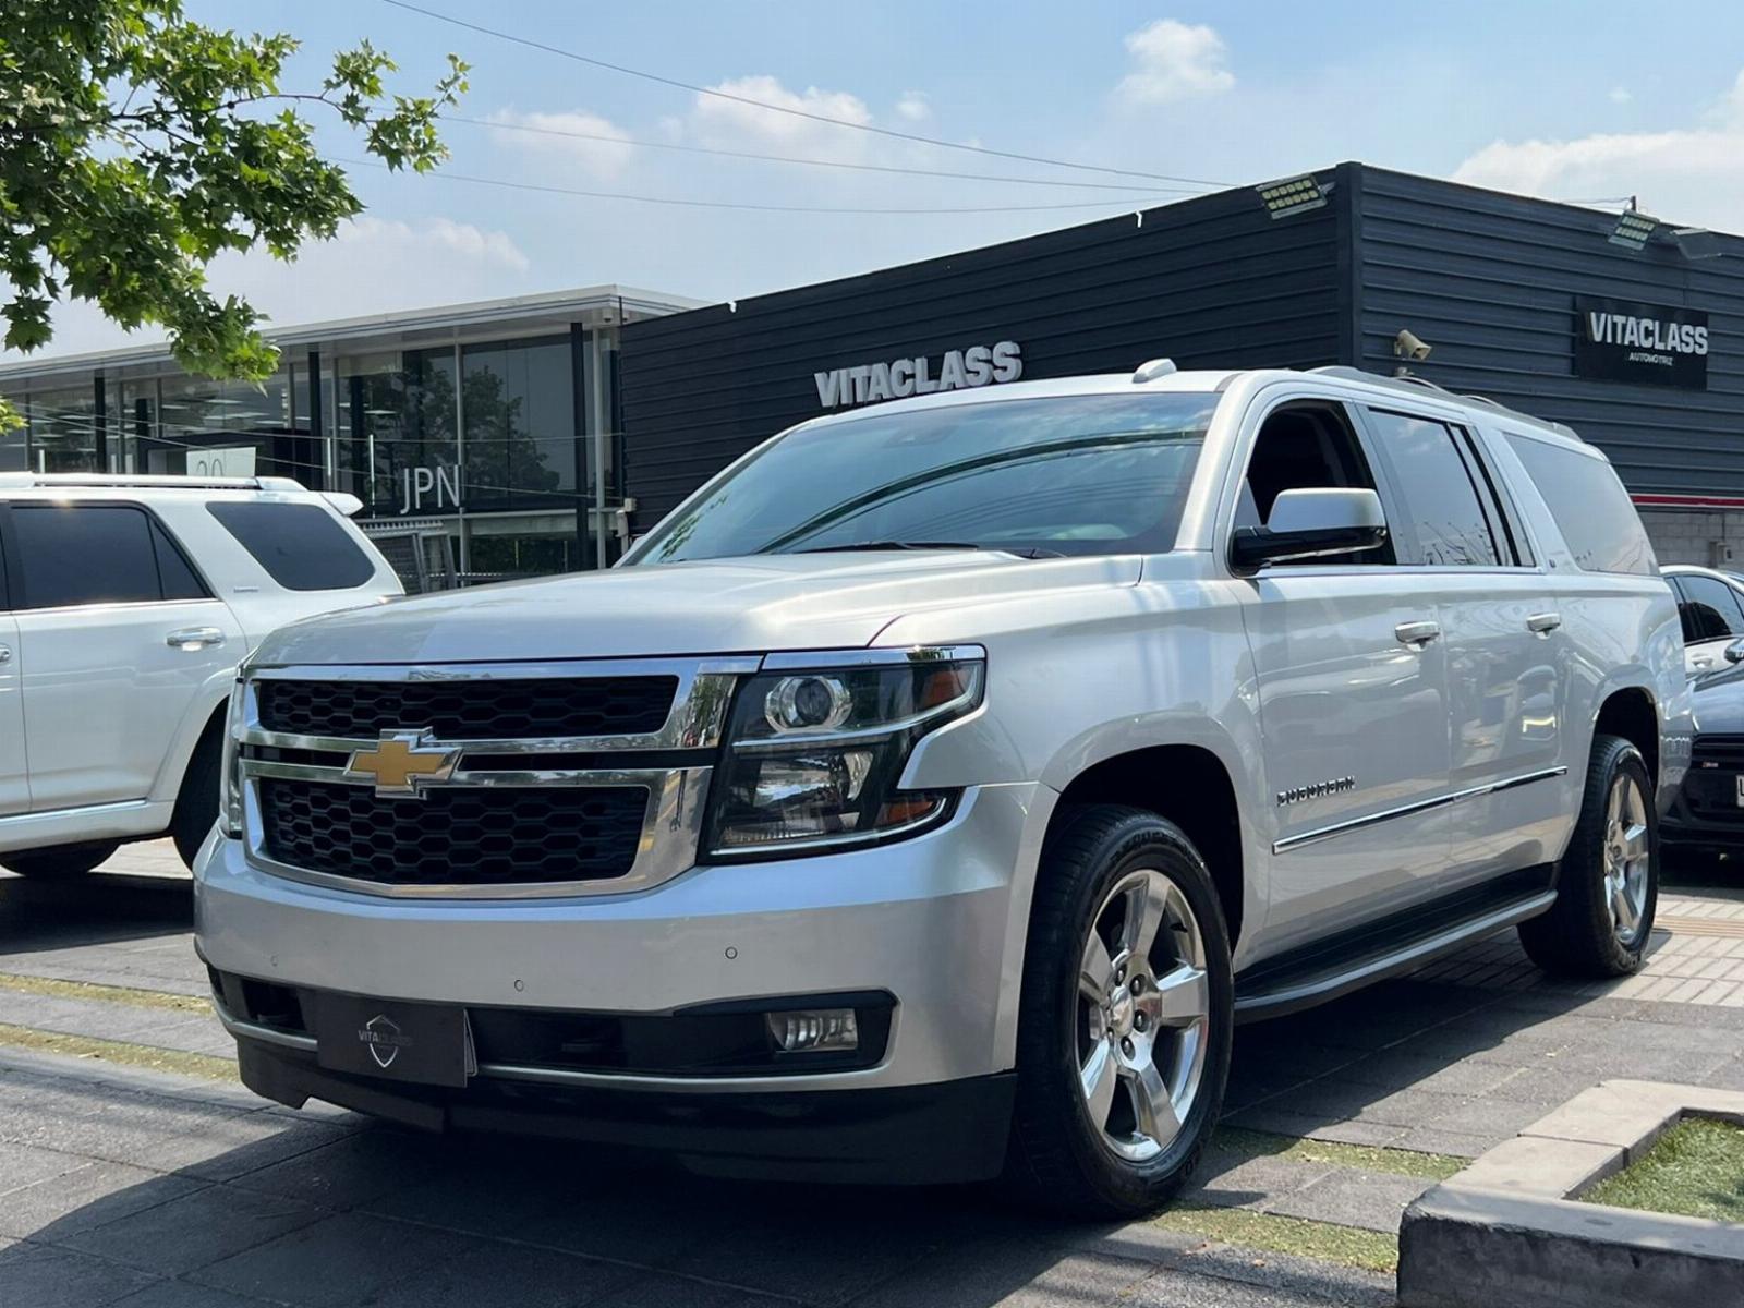
[[[980,705],[984,656],[893,659],[771,670],[739,687],[710,799],[710,856],[875,844],[947,816],[952,794],[896,783],[921,736]]]

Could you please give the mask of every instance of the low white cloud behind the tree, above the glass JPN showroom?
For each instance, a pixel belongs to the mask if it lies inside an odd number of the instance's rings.
[[[364,215],[331,241],[303,249],[295,263],[265,251],[220,255],[208,274],[215,295],[239,295],[270,317],[267,330],[420,309],[464,300],[494,300],[528,288],[532,262],[495,230],[426,218],[406,223]],[[541,290],[551,290],[542,286]],[[162,340],[148,328],[126,333],[85,302],[54,310],[54,340],[35,356],[0,351],[10,363]]]

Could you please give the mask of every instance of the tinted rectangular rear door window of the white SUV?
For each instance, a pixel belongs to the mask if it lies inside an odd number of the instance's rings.
[[[14,504],[21,607],[155,603],[152,520],[124,504]]]

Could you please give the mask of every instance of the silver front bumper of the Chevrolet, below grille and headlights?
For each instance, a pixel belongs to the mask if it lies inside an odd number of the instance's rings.
[[[645,891],[560,900],[392,900],[310,886],[251,865],[241,842],[215,835],[195,867],[197,945],[218,971],[276,985],[474,1008],[670,1015],[732,999],[895,996],[884,1057],[870,1067],[565,1073],[539,1078],[546,1090],[692,1102],[767,1092],[797,1104],[814,1092],[971,1081],[1015,1059],[1029,909],[1018,870],[1036,863],[1041,795],[1036,785],[971,788],[945,827],[910,841],[696,867]],[[302,1055],[258,1046],[251,1057],[295,1067]],[[307,1095],[356,1090],[312,1062],[307,1071],[319,1083]]]

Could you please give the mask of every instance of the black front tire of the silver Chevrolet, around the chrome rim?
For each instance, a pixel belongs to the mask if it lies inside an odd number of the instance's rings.
[[[1203,1052],[1198,1064],[1196,1092],[1191,1106],[1179,1116],[1179,1132],[1155,1156],[1130,1158],[1116,1153],[1114,1135],[1123,1106],[1113,1104],[1106,1121],[1092,1120],[1088,1095],[1081,1090],[1081,1066],[1097,1055],[1102,1041],[1109,1043],[1109,1057],[1120,1039],[1120,1031],[1130,1031],[1134,1003],[1116,1012],[1080,994],[1081,959],[1087,957],[1092,930],[1107,940],[1118,935],[1109,926],[1114,912],[1113,896],[1123,882],[1146,872],[1162,874],[1179,889],[1181,898],[1196,921],[1202,942],[1203,989],[1195,982],[1195,994],[1203,994],[1207,1018],[1203,1024],[1175,1029],[1167,1020],[1151,1018],[1149,1039],[1156,1041],[1160,1062],[1179,1057],[1188,1034]],[[1151,881],[1149,884],[1156,884]],[[1167,917],[1174,930],[1158,930],[1144,971],[1149,978],[1163,977],[1162,968],[1184,966],[1168,954],[1181,949],[1189,937]],[[1167,940],[1167,944],[1163,944]],[[1158,957],[1163,957],[1158,963]],[[1121,957],[1118,952],[1114,959]],[[1179,973],[1174,973],[1179,975]],[[1149,982],[1148,978],[1148,982]],[[1120,982],[1116,970],[1113,980]],[[1148,984],[1146,982],[1146,984]],[[1130,982],[1127,982],[1130,987]],[[1170,821],[1142,809],[1095,804],[1074,807],[1050,834],[1041,855],[1041,874],[1029,923],[1029,944],[1024,956],[1022,1006],[1017,1031],[1017,1107],[1012,1121],[1012,1141],[1006,1153],[1006,1182],[1017,1193],[1039,1207],[1073,1217],[1128,1217],[1151,1212],[1167,1203],[1186,1182],[1198,1163],[1205,1141],[1223,1107],[1224,1083],[1230,1074],[1230,1043],[1235,1013],[1235,985],[1230,970],[1230,933],[1224,926],[1223,905],[1205,860],[1193,842]],[[1149,985],[1149,1003],[1156,1005],[1162,991]],[[1087,1029],[1087,1008],[1093,1010],[1088,1025],[1100,1025],[1099,1036]],[[1162,1012],[1162,1010],[1158,1010]],[[1137,1032],[1146,1029],[1144,1024]],[[1134,1034],[1137,1039],[1139,1036]],[[1170,1053],[1168,1050],[1175,1050]],[[1118,1060],[1116,1060],[1118,1062]],[[1132,1135],[1142,1148],[1155,1139],[1142,1134],[1139,1123],[1137,1092],[1120,1073],[1114,1095],[1127,1093],[1125,1111],[1130,1114]],[[1165,1076],[1167,1081],[1167,1076]],[[1162,1134],[1162,1132],[1158,1132]]]

